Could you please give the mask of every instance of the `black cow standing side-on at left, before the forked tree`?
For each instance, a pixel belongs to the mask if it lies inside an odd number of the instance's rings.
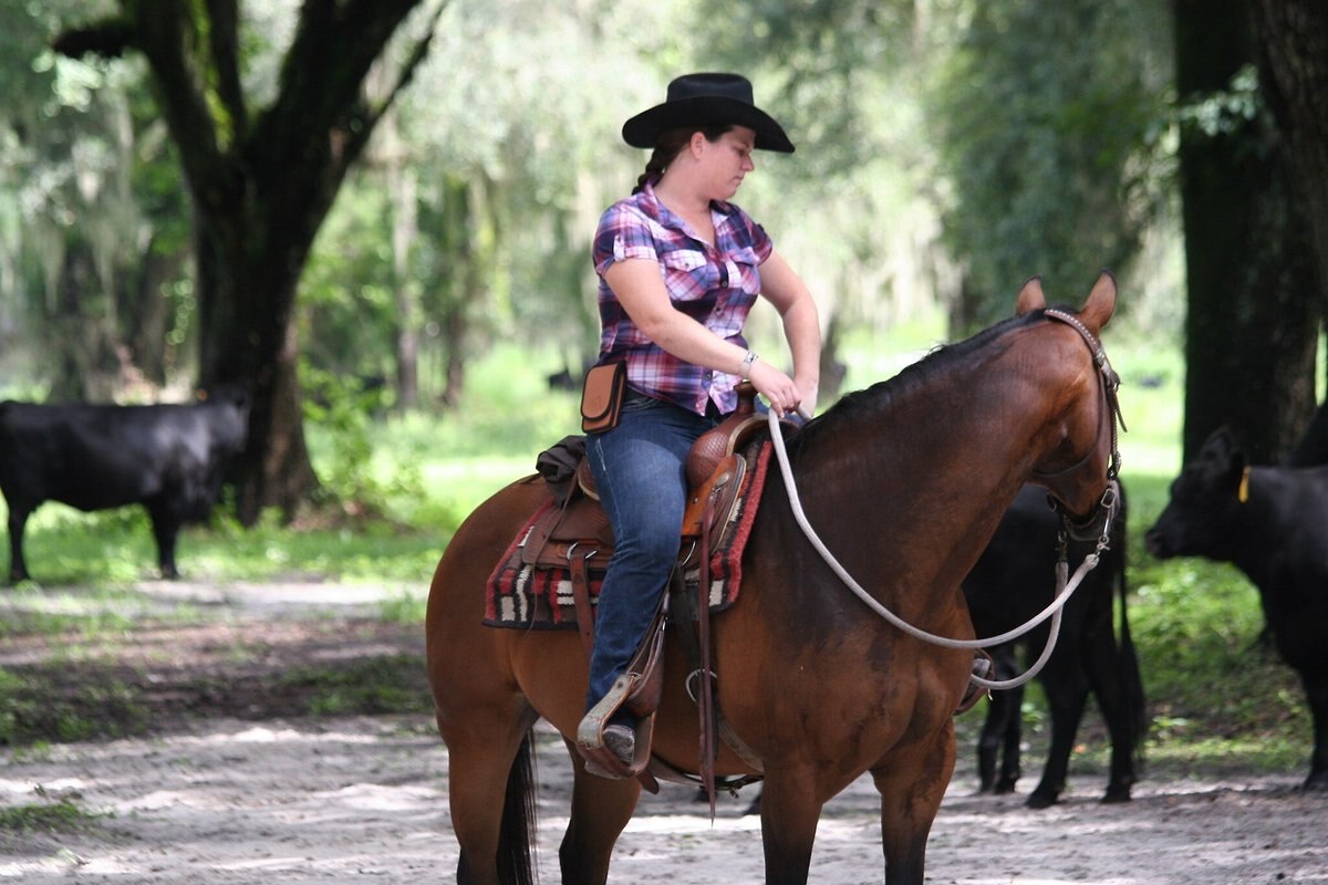
[[[175,537],[203,521],[244,446],[240,394],[191,406],[0,403],[0,491],[9,504],[9,580],[28,579],[23,529],[42,502],[81,511],[142,504],[162,577],[179,577]]]

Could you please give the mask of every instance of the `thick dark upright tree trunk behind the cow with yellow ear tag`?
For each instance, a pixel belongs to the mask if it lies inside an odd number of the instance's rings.
[[[1194,107],[1254,62],[1247,0],[1177,0],[1177,92]],[[1320,308],[1288,158],[1267,115],[1195,114],[1181,131],[1189,277],[1185,458],[1230,425],[1260,463],[1282,458],[1315,406]]]

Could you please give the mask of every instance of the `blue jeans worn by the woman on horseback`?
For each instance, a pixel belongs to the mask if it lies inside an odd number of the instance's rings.
[[[614,527],[614,557],[595,612],[587,710],[608,694],[645,638],[677,560],[687,452],[716,423],[629,393],[618,426],[586,441],[595,488]]]

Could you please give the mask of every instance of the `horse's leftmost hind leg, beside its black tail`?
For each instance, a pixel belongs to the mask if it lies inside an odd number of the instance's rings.
[[[529,709],[527,709],[529,710]],[[498,706],[463,716],[438,715],[448,744],[448,799],[461,845],[458,885],[527,885],[534,881],[534,789],[530,727],[534,713]]]

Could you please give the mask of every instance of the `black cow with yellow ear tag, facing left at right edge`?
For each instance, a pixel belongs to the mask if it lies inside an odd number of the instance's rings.
[[[1268,632],[1313,716],[1307,789],[1328,789],[1328,467],[1251,467],[1216,430],[1171,483],[1146,536],[1158,559],[1234,563],[1259,589]]]

